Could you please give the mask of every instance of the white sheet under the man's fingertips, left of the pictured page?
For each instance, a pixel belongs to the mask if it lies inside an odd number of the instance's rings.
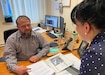
[[[29,75],[53,75],[54,74],[54,70],[50,68],[44,61],[39,61],[27,67],[31,68],[31,70],[27,71]]]

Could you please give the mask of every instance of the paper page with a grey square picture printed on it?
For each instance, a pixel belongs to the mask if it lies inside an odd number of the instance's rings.
[[[47,65],[52,67],[56,73],[61,72],[62,70],[72,65],[72,62],[66,59],[66,57],[61,53],[48,58],[45,60],[45,62]]]

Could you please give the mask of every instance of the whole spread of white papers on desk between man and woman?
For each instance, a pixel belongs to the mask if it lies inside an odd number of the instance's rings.
[[[70,66],[79,70],[80,60],[73,54],[58,53],[46,60],[27,66],[31,68],[27,72],[29,75],[72,75],[66,70]]]

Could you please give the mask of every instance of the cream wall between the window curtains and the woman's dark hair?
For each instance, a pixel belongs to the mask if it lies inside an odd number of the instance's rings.
[[[59,10],[55,9],[54,6],[55,0],[46,0],[46,13],[50,15],[58,15],[64,17],[66,23],[66,30],[73,31],[75,30],[75,25],[71,22],[70,13],[73,7],[81,1],[82,0],[70,0],[70,6],[63,7],[63,14],[60,14]]]

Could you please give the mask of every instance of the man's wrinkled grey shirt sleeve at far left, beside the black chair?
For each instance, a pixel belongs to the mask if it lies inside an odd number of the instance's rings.
[[[13,38],[8,38],[4,50],[4,58],[10,71],[14,71],[17,66],[16,48]]]

